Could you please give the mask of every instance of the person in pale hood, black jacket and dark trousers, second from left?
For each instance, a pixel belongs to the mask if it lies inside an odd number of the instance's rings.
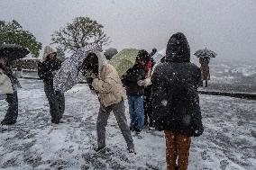
[[[51,122],[59,124],[60,119],[65,111],[64,93],[56,91],[53,88],[53,77],[61,67],[61,62],[57,58],[56,50],[46,46],[42,62],[38,63],[38,76],[44,83],[44,92],[50,105]]]

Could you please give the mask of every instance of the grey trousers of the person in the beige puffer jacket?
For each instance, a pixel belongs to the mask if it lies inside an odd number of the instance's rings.
[[[98,148],[105,147],[105,126],[107,125],[109,114],[112,111],[114,112],[115,119],[118,123],[120,130],[122,131],[123,138],[126,141],[127,147],[134,148],[131,131],[129,130],[125,117],[125,106],[123,101],[120,103],[115,103],[108,107],[100,106],[96,121]]]

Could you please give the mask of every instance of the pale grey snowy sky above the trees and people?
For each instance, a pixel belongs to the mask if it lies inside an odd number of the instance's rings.
[[[207,47],[218,61],[256,61],[256,0],[0,0],[0,9],[0,20],[20,22],[43,46],[53,31],[88,16],[118,50],[163,49],[182,31],[191,53]]]

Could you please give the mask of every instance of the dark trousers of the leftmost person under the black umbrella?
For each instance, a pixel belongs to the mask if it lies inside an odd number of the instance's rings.
[[[17,91],[14,91],[14,94],[6,94],[6,102],[8,103],[8,109],[5,114],[5,122],[16,122],[18,117],[18,96]]]

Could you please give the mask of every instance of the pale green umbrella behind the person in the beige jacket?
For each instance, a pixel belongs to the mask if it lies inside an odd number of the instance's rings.
[[[115,67],[119,76],[123,76],[129,68],[133,67],[138,52],[139,49],[123,49],[110,60],[110,64]]]

